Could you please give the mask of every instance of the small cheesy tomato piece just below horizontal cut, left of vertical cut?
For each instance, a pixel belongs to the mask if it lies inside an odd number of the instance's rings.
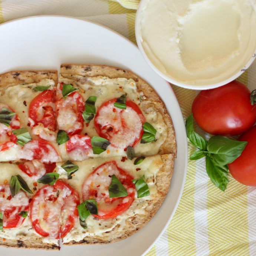
[[[52,173],[56,167],[56,163],[43,164],[38,160],[27,161],[24,164],[19,164],[18,167],[23,173],[26,173],[33,180],[38,180],[46,173]]]

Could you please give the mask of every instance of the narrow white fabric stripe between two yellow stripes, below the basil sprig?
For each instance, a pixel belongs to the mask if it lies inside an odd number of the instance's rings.
[[[205,158],[196,162],[195,180],[195,240],[196,255],[209,255],[208,229],[207,229],[207,183],[209,177],[205,170]]]

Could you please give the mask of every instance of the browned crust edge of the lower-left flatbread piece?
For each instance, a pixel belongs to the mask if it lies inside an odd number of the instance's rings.
[[[5,241],[0,238],[0,246],[13,247],[21,249],[45,249],[45,250],[59,250],[59,245],[47,244],[42,242],[41,237],[29,237],[27,240],[13,240],[6,239]]]

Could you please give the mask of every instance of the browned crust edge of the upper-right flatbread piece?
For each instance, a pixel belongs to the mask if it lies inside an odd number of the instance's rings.
[[[155,109],[161,113],[163,120],[167,125],[167,138],[164,143],[161,145],[158,154],[175,154],[177,153],[177,145],[175,140],[175,131],[173,127],[173,122],[171,117],[167,112],[167,109],[157,95],[155,90],[148,85],[143,79],[135,75],[129,70],[120,69],[112,66],[105,65],[79,65],[79,64],[62,64],[60,66],[60,74],[63,77],[72,79],[72,75],[81,75],[81,76],[107,76],[109,78],[127,78],[134,79],[137,84],[138,92],[143,92],[146,97],[147,104],[153,104]]]

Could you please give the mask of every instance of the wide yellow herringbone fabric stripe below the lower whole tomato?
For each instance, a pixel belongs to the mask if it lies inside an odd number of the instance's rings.
[[[209,180],[207,224],[210,255],[249,255],[247,187],[229,175],[225,192]]]

